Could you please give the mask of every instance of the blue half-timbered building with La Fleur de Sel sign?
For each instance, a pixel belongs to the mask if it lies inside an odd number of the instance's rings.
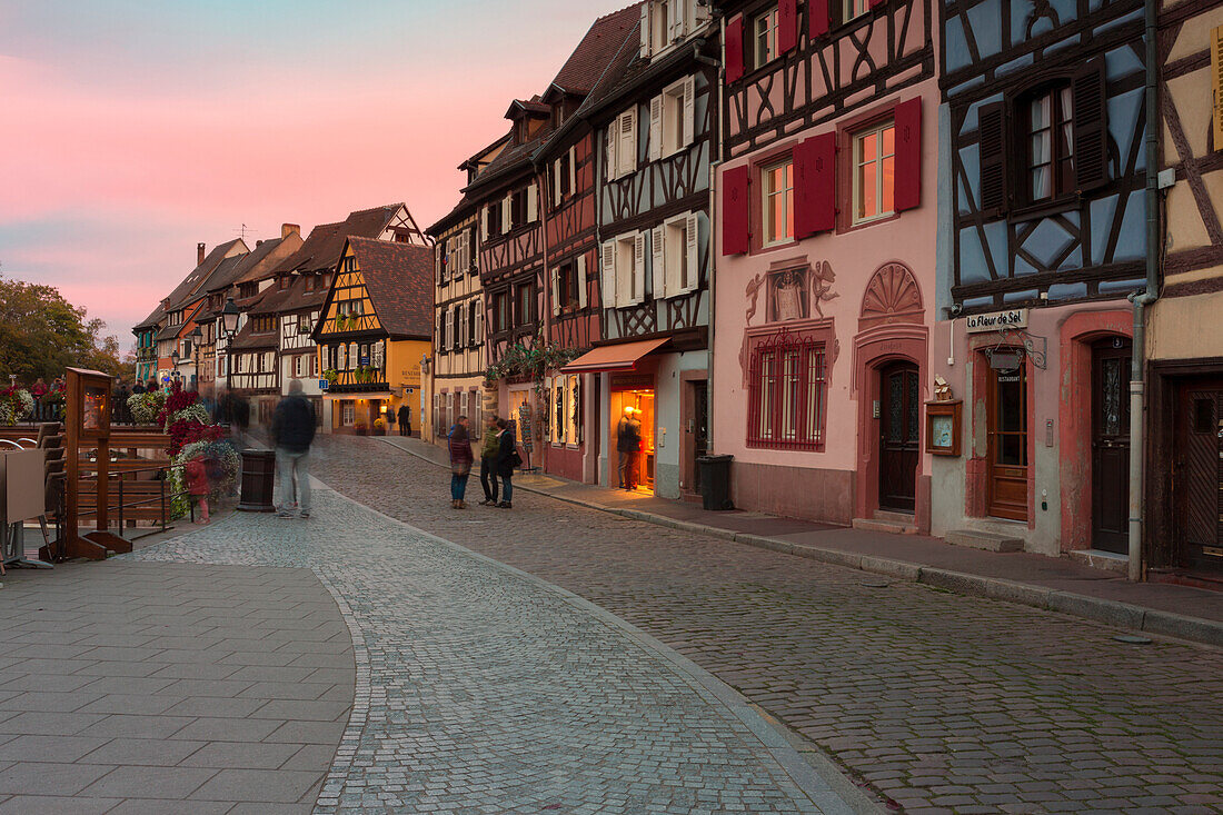
[[[939,21],[934,367],[963,443],[934,459],[933,532],[1124,568],[1142,2],[948,0]]]

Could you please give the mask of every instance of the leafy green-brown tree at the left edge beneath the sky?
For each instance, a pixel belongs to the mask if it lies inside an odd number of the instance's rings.
[[[105,322],[86,317],[54,286],[0,277],[0,377],[50,382],[68,366],[120,374],[119,340],[103,334]]]

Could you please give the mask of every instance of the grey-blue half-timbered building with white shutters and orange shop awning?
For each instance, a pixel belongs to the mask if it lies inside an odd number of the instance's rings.
[[[589,394],[587,436],[599,482],[613,487],[621,486],[618,425],[624,409],[640,411],[643,449],[630,482],[679,498],[695,493],[707,447],[719,38],[695,0],[648,0],[621,13],[634,24],[578,111],[593,131],[582,149],[598,218],[598,244],[582,258],[598,286],[581,294],[598,300],[598,337],[553,382],[552,401],[560,414],[570,390]]]

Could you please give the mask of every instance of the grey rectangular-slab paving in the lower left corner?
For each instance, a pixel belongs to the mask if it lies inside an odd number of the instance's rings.
[[[349,639],[317,683],[318,668],[287,667],[316,649],[298,634],[347,636],[308,569],[65,564],[10,573],[0,602],[0,814],[227,813],[263,806],[269,793],[225,773],[269,770],[285,773],[276,800],[296,791],[289,803],[312,808],[351,709],[355,662]],[[265,629],[281,611],[311,624]],[[220,661],[260,647],[284,652],[286,667],[229,679],[245,668]],[[309,717],[329,713],[322,750],[263,740],[305,712],[276,707],[300,704],[283,687],[342,691],[346,701],[317,702],[327,709]],[[252,698],[254,688],[267,693]]]

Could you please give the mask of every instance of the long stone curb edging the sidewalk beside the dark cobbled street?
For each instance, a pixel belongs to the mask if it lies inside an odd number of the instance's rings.
[[[388,442],[388,444],[391,443]],[[422,461],[428,461],[435,466],[443,466],[437,461],[416,453],[415,450],[408,450],[399,447],[397,444],[391,444],[391,447],[402,450],[408,455],[415,455]],[[599,512],[620,515],[623,518],[631,518],[634,520],[654,524],[657,526],[669,526],[671,529],[707,535],[724,541],[734,541],[736,543],[772,549],[784,554],[794,554],[811,560],[832,563],[833,565],[857,569],[860,571],[870,571],[890,578],[910,580],[936,589],[955,591],[963,595],[1000,600],[1044,611],[1059,612],[1071,617],[1092,620],[1095,623],[1103,623],[1104,625],[1128,628],[1136,631],[1145,631],[1147,634],[1157,634],[1159,636],[1170,636],[1202,645],[1223,647],[1223,623],[1211,619],[1188,617],[1185,614],[1177,614],[1174,612],[1164,612],[1155,608],[1145,608],[1142,606],[1124,603],[1115,600],[1090,597],[1073,591],[1033,586],[1025,582],[1004,580],[1002,578],[985,578],[982,575],[953,571],[950,569],[939,569],[905,560],[857,554],[854,552],[844,552],[841,549],[829,549],[807,543],[791,543],[790,541],[766,537],[762,535],[751,535],[748,532],[734,532],[731,530],[706,526],[704,524],[680,521],[674,518],[667,518],[665,515],[647,513],[638,509],[619,509],[581,498],[556,496],[545,489],[526,485],[515,485],[515,488],[525,489],[539,496],[547,496],[548,498],[561,501],[567,504],[586,507],[587,509],[597,509]]]

